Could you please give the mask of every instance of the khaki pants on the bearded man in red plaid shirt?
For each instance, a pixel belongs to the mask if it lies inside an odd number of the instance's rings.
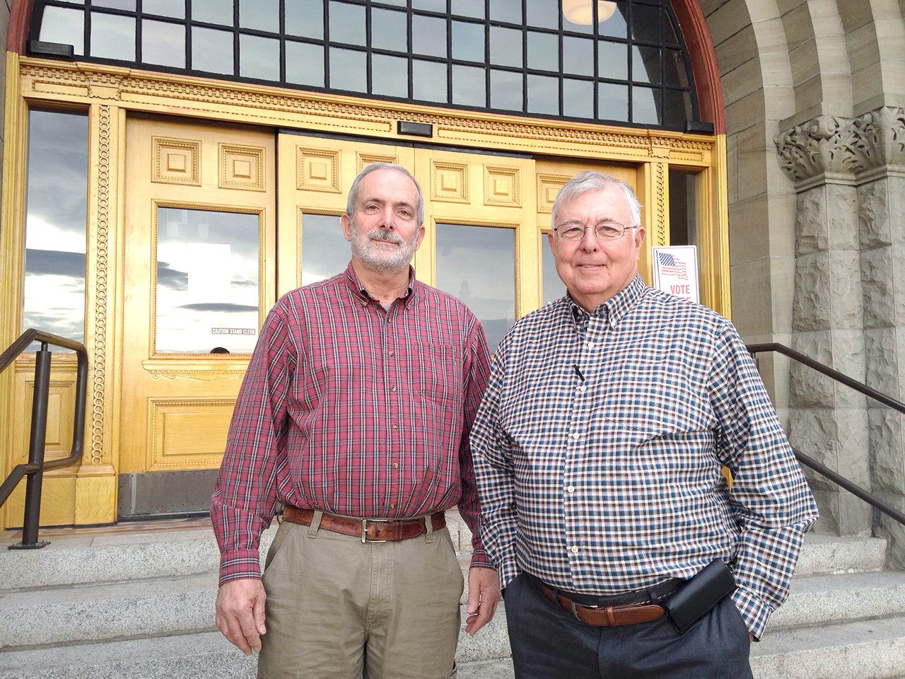
[[[445,528],[362,544],[283,522],[263,583],[261,679],[456,675],[463,582]]]

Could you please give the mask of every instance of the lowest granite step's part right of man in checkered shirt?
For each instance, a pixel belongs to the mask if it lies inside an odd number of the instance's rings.
[[[905,669],[905,617],[767,634],[751,647],[757,679],[896,679]]]

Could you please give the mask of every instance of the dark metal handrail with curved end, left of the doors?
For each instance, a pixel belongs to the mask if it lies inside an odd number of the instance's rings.
[[[23,520],[22,542],[10,545],[11,550],[35,550],[46,546],[46,541],[38,540],[38,526],[41,520],[41,486],[43,473],[60,469],[81,460],[85,438],[85,399],[88,394],[88,352],[81,342],[52,335],[43,330],[29,328],[8,349],[0,354],[0,372],[33,342],[41,342],[41,349],[34,356],[34,394],[32,399],[32,428],[28,440],[28,463],[17,464],[0,485],[0,506],[13,493],[15,486],[28,476],[25,485],[25,516]],[[47,345],[72,349],[78,358],[75,381],[75,416],[72,423],[72,447],[67,457],[44,462],[44,441],[47,434],[47,400],[50,395],[51,355]]]

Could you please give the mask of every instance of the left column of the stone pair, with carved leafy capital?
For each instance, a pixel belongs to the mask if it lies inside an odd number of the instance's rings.
[[[851,121],[821,116],[776,138],[795,181],[795,294],[792,348],[846,375],[864,379],[862,282]],[[865,488],[871,488],[864,397],[793,361],[789,440]],[[805,470],[820,506],[817,530],[870,534],[869,505]]]

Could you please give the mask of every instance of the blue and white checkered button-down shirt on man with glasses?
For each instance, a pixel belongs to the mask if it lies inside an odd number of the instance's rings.
[[[735,328],[638,275],[593,314],[564,297],[515,324],[472,453],[502,587],[617,594],[725,559],[757,638],[817,518]]]

